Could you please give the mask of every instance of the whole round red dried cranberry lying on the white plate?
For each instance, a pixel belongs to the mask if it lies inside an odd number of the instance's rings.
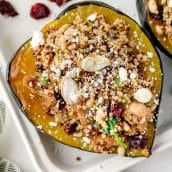
[[[50,10],[47,6],[42,3],[36,3],[31,7],[30,16],[34,19],[42,19],[48,17]]]

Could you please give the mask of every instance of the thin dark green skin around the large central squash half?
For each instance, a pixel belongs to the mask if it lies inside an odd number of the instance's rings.
[[[101,6],[101,7],[106,7],[106,8],[108,8],[108,9],[111,9],[111,10],[113,10],[114,12],[118,13],[119,15],[128,17],[128,16],[126,16],[125,14],[123,14],[122,12],[120,12],[120,11],[114,9],[113,7],[111,7],[111,6],[107,5],[107,4],[104,4],[104,3],[102,3],[102,2],[90,2],[90,1],[86,2],[86,1],[85,1],[85,2],[76,3],[76,4],[74,4],[74,5],[69,6],[68,8],[66,8],[63,12],[61,12],[61,13],[58,15],[57,19],[61,18],[66,12],[69,12],[69,11],[71,11],[71,10],[77,8],[78,6],[83,6],[83,5],[98,5],[98,6]],[[129,17],[128,17],[128,18],[129,18]],[[132,22],[134,22],[136,25],[138,25],[133,19],[130,18],[130,20],[131,20]],[[142,30],[142,31],[143,31],[143,30]],[[30,40],[26,41],[26,42],[21,46],[21,48],[24,47],[24,45],[26,45],[29,41],[30,41]],[[152,46],[152,47],[153,47],[153,46]],[[22,102],[21,102],[19,96],[16,94],[15,89],[14,89],[14,87],[12,86],[11,81],[10,81],[11,67],[12,67],[12,65],[13,65],[13,61],[15,60],[16,55],[21,51],[21,48],[19,48],[19,50],[18,50],[18,51],[16,52],[16,54],[13,56],[13,59],[12,59],[12,61],[10,62],[9,66],[8,66],[8,69],[7,69],[7,81],[8,81],[8,83],[9,83],[9,87],[10,87],[10,89],[11,89],[11,92],[12,92],[12,94],[14,95],[14,97],[15,97],[15,99],[16,99],[16,102],[17,102],[17,104],[18,104],[18,107],[19,107],[20,110],[23,112],[23,114],[25,114],[25,116],[31,121],[31,123],[36,127],[38,124],[36,124],[35,121],[29,117],[28,113],[26,112],[25,108],[23,107],[23,104],[22,104]],[[156,49],[154,49],[154,51],[155,51],[155,53],[156,53],[157,58],[159,58]],[[159,63],[160,63],[160,69],[161,69],[161,73],[162,73],[163,70],[162,70],[162,63],[161,63],[160,58],[159,58]],[[160,97],[161,97],[161,90],[162,90],[162,82],[163,82],[163,76],[162,76],[162,78],[161,78],[161,83],[160,83],[160,85],[161,85],[161,86],[160,86],[160,94],[159,94]],[[157,107],[155,114],[158,113],[158,108],[159,108],[159,106]],[[152,148],[152,144],[153,144],[153,140],[154,140],[154,136],[155,136],[155,131],[154,131],[154,130],[155,130],[155,128],[156,128],[156,120],[154,120],[154,123],[150,123],[150,128],[151,128],[151,131],[152,131],[152,132],[148,133],[148,135],[151,137],[151,140],[149,141],[149,148],[148,148],[148,149],[149,149],[150,154],[151,154],[151,148]],[[38,128],[36,127],[36,129],[38,129]],[[44,133],[45,135],[47,135],[48,137],[53,138],[54,140],[56,140],[56,141],[58,141],[58,142],[61,142],[61,143],[65,144],[65,145],[68,145],[68,146],[71,146],[71,147],[75,147],[75,148],[78,148],[78,149],[82,149],[82,150],[85,150],[85,151],[89,151],[89,152],[94,152],[94,150],[89,149],[89,147],[87,147],[87,148],[81,148],[81,147],[79,147],[78,145],[69,145],[69,144],[65,143],[64,141],[59,140],[59,139],[57,139],[57,138],[51,136],[50,134],[48,134],[48,132],[47,132],[45,129],[43,129],[43,130],[38,129],[38,130],[41,131],[41,132],[43,132],[43,133]],[[142,153],[142,150],[139,150],[139,149],[132,149],[132,152],[133,152],[133,153],[132,153],[132,154],[128,154],[130,151],[131,151],[131,150],[129,150],[129,149],[126,150],[126,156],[131,156],[131,157],[145,156],[145,155]],[[94,152],[94,153],[95,153],[95,152]],[[113,153],[116,153],[116,151],[113,152]],[[150,155],[150,154],[149,154],[149,155]],[[147,155],[147,156],[149,156],[149,155]]]

